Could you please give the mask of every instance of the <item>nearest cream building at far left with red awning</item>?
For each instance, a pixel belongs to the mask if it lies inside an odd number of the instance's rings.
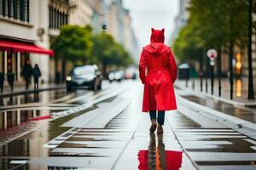
[[[21,70],[26,60],[32,66],[38,63],[42,71],[42,79],[49,81],[49,54],[44,49],[49,48],[49,39],[45,34],[48,28],[48,2],[44,0],[14,0],[0,1],[0,71],[15,73],[15,80],[21,81]],[[39,13],[38,13],[39,11]],[[7,44],[6,44],[7,43]],[[22,49],[15,48],[22,46]],[[32,52],[29,48],[41,48],[41,52]]]

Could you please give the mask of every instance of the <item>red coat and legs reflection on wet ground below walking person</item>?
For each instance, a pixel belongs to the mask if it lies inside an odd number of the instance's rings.
[[[160,136],[161,135],[161,136]],[[140,150],[138,153],[139,170],[178,170],[182,164],[182,151],[165,150],[162,143],[162,134],[158,135],[158,146],[155,146],[154,133],[150,134],[148,150]]]

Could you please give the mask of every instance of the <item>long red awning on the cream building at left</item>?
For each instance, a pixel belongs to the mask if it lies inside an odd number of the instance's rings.
[[[27,52],[36,54],[49,54],[54,56],[55,52],[51,49],[39,48],[38,46],[26,42],[11,42],[0,40],[0,50],[13,50],[14,52]]]

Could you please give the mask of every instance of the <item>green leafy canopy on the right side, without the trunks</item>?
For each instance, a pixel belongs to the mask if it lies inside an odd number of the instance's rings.
[[[249,0],[191,0],[189,20],[173,43],[178,59],[200,59],[203,49],[228,46],[230,41],[247,46]],[[256,14],[256,0],[253,0]],[[255,30],[255,21],[253,22]]]

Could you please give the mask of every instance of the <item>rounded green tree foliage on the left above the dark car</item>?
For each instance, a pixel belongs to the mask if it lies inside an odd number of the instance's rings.
[[[51,44],[56,59],[66,59],[74,64],[126,66],[133,63],[130,54],[111,35],[93,35],[90,26],[62,26],[60,35]]]

